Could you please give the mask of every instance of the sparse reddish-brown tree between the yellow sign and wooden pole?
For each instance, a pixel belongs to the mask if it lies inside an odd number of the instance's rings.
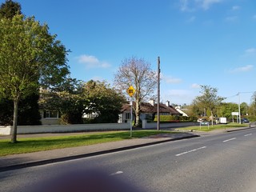
[[[141,113],[140,103],[146,99],[153,98],[157,86],[156,73],[151,70],[150,63],[143,58],[126,58],[119,66],[118,72],[114,77],[115,86],[122,92],[130,86],[135,89],[135,126],[139,124]]]

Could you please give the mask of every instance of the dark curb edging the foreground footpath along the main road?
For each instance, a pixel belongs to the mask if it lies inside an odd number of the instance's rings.
[[[110,154],[110,153],[114,153],[114,152],[118,152],[118,151],[122,151],[122,150],[131,150],[131,149],[139,148],[142,146],[153,146],[153,145],[164,143],[164,142],[173,142],[173,141],[182,140],[182,139],[186,139],[186,138],[197,138],[197,137],[200,137],[200,135],[194,134],[194,135],[185,136],[185,137],[181,137],[181,138],[170,138],[170,139],[157,141],[157,142],[149,142],[149,143],[138,144],[138,145],[134,145],[134,146],[125,146],[125,147],[120,147],[120,148],[116,148],[116,149],[102,150],[102,151],[88,153],[88,154],[78,154],[78,155],[62,157],[62,158],[52,158],[52,159],[39,160],[39,161],[34,161],[34,162],[24,162],[24,163],[19,163],[16,165],[11,165],[11,166],[2,166],[2,167],[0,167],[0,172],[4,172],[4,171],[8,171],[8,170],[18,170],[18,169],[32,167],[32,166],[42,166],[42,165],[46,165],[46,164],[50,164],[50,163],[54,163],[54,162],[65,162],[65,161],[74,160],[74,159],[78,159],[78,158],[88,158],[88,157],[93,157],[93,156],[100,155],[100,154]]]

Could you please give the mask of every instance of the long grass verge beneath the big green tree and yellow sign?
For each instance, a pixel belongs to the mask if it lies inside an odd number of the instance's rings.
[[[10,139],[2,139],[0,140],[0,157],[9,154],[26,154],[42,150],[55,150],[74,146],[89,146],[104,142],[143,138],[155,134],[174,134],[174,131],[134,130],[131,138],[130,131],[111,131],[97,134],[85,133],[72,136],[55,136],[47,138],[18,138],[18,142],[16,143],[11,143]]]

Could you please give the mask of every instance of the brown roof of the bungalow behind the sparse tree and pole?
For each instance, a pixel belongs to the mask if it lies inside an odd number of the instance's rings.
[[[135,106],[135,102],[133,102],[133,106]],[[130,111],[130,104],[126,103],[122,106],[121,112]],[[158,105],[154,104],[152,106],[149,102],[141,103],[141,113],[143,114],[155,114],[158,112]],[[168,114],[178,114],[180,113],[175,110],[173,106],[166,106],[166,104],[160,103],[160,113],[168,113]]]

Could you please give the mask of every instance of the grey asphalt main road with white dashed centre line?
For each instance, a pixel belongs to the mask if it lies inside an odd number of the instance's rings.
[[[55,181],[59,174],[68,173],[66,180],[59,183],[66,189],[72,183],[80,185],[81,182],[83,190],[105,186],[104,181],[108,183],[107,187],[114,187],[121,180],[128,183],[123,189],[133,186],[145,191],[254,192],[255,136],[256,129],[242,130],[6,171],[0,173],[0,191],[28,191],[30,186],[38,186],[38,183],[47,186],[47,179]],[[106,175],[100,173],[94,179],[81,173],[74,174],[74,170],[78,170],[92,175],[88,172],[91,169],[104,171]],[[86,179],[78,179],[83,177]]]

